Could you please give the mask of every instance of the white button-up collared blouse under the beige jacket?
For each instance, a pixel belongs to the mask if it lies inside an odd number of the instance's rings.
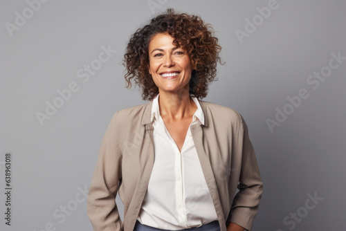
[[[161,118],[158,96],[153,100],[151,117],[154,167],[137,220],[163,230],[199,227],[215,221],[217,214],[190,131],[197,119],[204,124],[201,105],[190,95],[198,109],[180,152]]]

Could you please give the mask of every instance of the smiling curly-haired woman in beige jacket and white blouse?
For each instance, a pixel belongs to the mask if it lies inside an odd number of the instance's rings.
[[[168,9],[131,37],[125,79],[149,102],[116,111],[104,134],[88,196],[94,230],[251,230],[262,179],[246,123],[198,100],[220,60],[212,32]]]

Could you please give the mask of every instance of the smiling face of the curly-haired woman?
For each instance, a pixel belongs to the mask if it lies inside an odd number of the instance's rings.
[[[158,33],[149,43],[149,73],[158,91],[189,90],[192,73],[190,57],[185,49],[173,45],[174,38]]]

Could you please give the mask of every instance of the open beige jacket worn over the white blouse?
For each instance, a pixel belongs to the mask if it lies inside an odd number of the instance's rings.
[[[263,184],[244,118],[234,109],[199,103],[205,125],[197,120],[191,133],[221,231],[230,221],[251,230]],[[116,111],[109,122],[87,201],[95,231],[134,230],[154,164],[151,111],[149,101]],[[115,201],[118,191],[124,221]]]

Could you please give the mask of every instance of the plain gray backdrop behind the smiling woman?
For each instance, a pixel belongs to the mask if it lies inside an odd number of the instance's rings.
[[[138,87],[125,89],[121,59],[127,41],[172,7],[200,15],[219,37],[226,64],[218,66],[219,80],[203,100],[239,111],[248,124],[264,181],[253,230],[345,230],[346,60],[318,89],[307,79],[328,65],[331,53],[346,56],[346,2],[277,0],[277,9],[241,43],[235,30],[244,31],[245,19],[252,21],[257,7],[268,2],[48,1],[11,37],[6,24],[15,25],[16,12],[23,15],[30,6],[1,1],[0,183],[3,192],[3,161],[10,151],[13,191],[12,225],[1,215],[0,229],[39,231],[51,222],[56,230],[92,230],[78,189],[89,188],[113,113],[145,103]],[[82,82],[78,70],[98,59],[101,46],[117,52]],[[71,82],[79,90],[42,126],[37,111],[44,113],[45,102]],[[275,108],[282,110],[300,89],[309,98],[271,132],[266,119],[275,120]],[[311,210],[304,208],[308,194],[320,197]],[[68,207],[63,220],[66,205],[73,211]],[[283,222],[297,212],[298,219]]]

